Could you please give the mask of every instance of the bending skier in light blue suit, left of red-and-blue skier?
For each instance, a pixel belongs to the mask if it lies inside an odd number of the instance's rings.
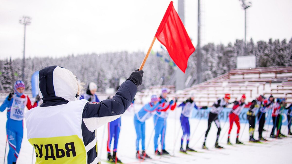
[[[163,100],[162,100],[163,101]],[[134,116],[134,125],[135,130],[137,133],[137,140],[136,140],[136,158],[150,158],[145,153],[145,121],[149,119],[151,116],[153,116],[156,112],[156,110],[159,108],[159,99],[156,95],[151,96],[150,103],[147,103],[144,105],[139,112],[137,112]],[[139,142],[141,140],[142,145],[142,152],[140,154],[139,151]]]

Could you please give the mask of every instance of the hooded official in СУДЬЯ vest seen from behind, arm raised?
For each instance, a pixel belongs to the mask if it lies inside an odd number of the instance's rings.
[[[97,103],[75,100],[79,84],[72,72],[59,66],[39,71],[43,103],[25,114],[27,139],[34,146],[36,163],[100,163],[95,129],[121,116],[142,84],[136,70],[112,99]]]

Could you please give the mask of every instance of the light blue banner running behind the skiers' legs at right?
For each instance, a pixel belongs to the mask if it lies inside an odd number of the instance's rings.
[[[193,110],[192,113],[192,117],[191,118],[195,118],[195,119],[206,119],[208,120],[209,117],[209,112],[210,112],[211,108],[208,108],[206,110]],[[225,122],[228,121],[229,122],[229,113],[231,111],[231,108],[224,108],[223,111],[219,114],[218,118],[221,122]],[[246,119],[246,112],[248,111],[248,108],[244,108],[241,113],[239,114],[239,119],[241,123],[246,123],[248,124],[248,120]],[[282,114],[282,125],[287,125],[288,121],[287,121],[287,111],[288,110],[284,110],[283,114]],[[256,117],[256,123],[258,123],[258,117]],[[272,119],[272,111],[269,110],[266,113],[266,122],[265,124],[270,124],[273,125],[273,119]]]

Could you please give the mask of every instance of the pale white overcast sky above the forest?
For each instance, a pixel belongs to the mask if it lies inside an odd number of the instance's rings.
[[[291,0],[250,0],[247,40],[292,38]],[[169,0],[0,0],[0,59],[64,57],[117,51],[147,52]],[[175,9],[178,0],[173,1]],[[197,45],[197,0],[185,0],[185,28]],[[201,1],[201,45],[244,39],[244,10],[238,0]],[[159,51],[155,41],[152,50]]]

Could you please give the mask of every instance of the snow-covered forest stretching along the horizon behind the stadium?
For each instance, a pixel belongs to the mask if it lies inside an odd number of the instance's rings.
[[[228,45],[208,43],[202,48],[203,81],[222,75],[230,69],[236,68],[236,57],[244,56],[244,41],[236,40]],[[251,39],[246,46],[246,55],[256,56],[256,67],[291,66],[292,38],[254,43]],[[40,54],[41,56],[41,54]],[[30,90],[30,80],[36,70],[46,66],[58,65],[71,70],[81,82],[95,82],[98,91],[105,88],[116,88],[120,78],[127,78],[130,73],[139,68],[145,56],[144,52],[111,52],[104,54],[69,54],[67,57],[35,57],[25,60],[25,84]],[[196,51],[188,61],[189,75],[196,74]],[[161,48],[158,52],[151,52],[143,68],[143,84],[139,89],[151,85],[169,84],[171,75],[177,67]],[[9,57],[0,60],[0,89],[11,90],[13,82],[21,79],[22,59],[11,60]]]

